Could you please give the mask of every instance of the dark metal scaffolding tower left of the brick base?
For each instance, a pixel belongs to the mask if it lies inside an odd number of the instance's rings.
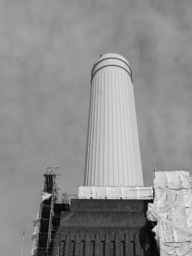
[[[39,232],[37,239],[37,256],[52,256],[53,239],[60,223],[61,211],[67,211],[67,204],[58,201],[58,184],[56,169],[44,168],[44,186],[42,193],[51,194],[50,198],[41,201],[39,215]]]

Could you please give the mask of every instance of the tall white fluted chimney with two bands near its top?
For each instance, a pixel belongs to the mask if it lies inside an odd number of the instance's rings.
[[[91,72],[84,186],[143,186],[132,73],[118,54]]]

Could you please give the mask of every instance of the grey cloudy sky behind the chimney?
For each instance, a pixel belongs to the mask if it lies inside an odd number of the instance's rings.
[[[83,185],[90,71],[100,53],[133,71],[145,186],[192,169],[191,0],[1,0],[1,255],[30,255],[44,166]]]

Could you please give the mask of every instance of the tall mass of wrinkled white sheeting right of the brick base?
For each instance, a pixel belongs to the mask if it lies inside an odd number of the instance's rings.
[[[192,255],[192,180],[189,171],[155,172],[154,203],[147,219],[157,221],[152,230],[160,256]]]

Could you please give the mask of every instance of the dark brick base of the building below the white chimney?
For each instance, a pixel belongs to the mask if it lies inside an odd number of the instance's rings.
[[[70,212],[63,212],[61,219],[74,214],[58,227],[52,255],[158,256],[149,231],[151,224],[145,217],[148,202],[73,199]]]

